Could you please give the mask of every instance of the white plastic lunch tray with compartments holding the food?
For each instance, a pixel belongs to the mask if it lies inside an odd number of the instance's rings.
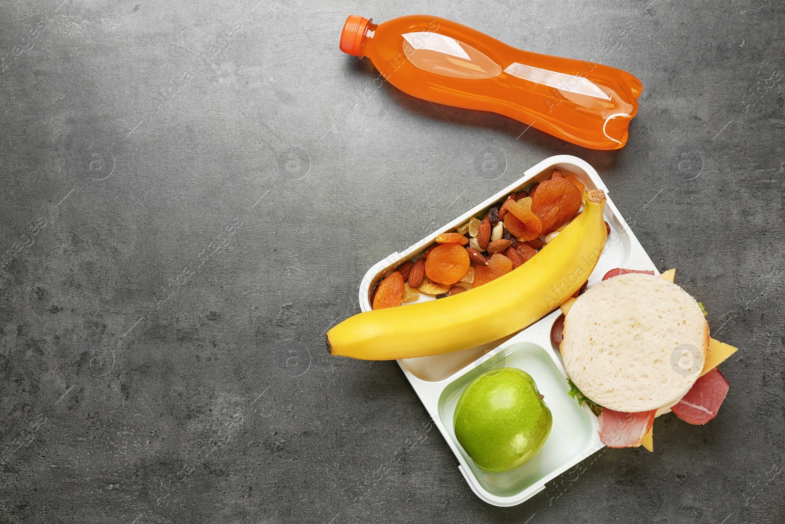
[[[506,198],[510,192],[526,189],[535,181],[550,178],[554,167],[562,170],[564,174],[574,174],[586,184],[586,189],[603,189],[606,196],[608,195],[608,188],[597,171],[582,159],[559,155],[542,160],[528,169],[520,180],[434,231],[406,251],[393,253],[368,269],[360,283],[360,308],[363,311],[371,310],[369,298],[374,285],[401,263],[418,258],[426,247],[433,244],[436,235],[453,231],[469,218],[480,216],[487,208]],[[617,267],[652,269],[659,274],[652,259],[637,241],[609,196],[604,216],[611,226],[611,233],[600,261],[589,277],[589,285],[601,280],[608,270]],[[418,301],[425,300],[434,299],[421,294]],[[401,307],[406,306],[404,304]],[[411,387],[417,392],[436,427],[458,458],[458,469],[466,478],[469,487],[477,497],[488,504],[520,504],[545,489],[546,482],[603,447],[597,433],[597,417],[587,405],[580,407],[568,396],[567,373],[564,372],[557,348],[550,342],[550,328],[559,314],[560,310],[553,311],[516,335],[484,346],[434,357],[398,361]],[[487,473],[477,468],[458,444],[453,432],[452,416],[458,398],[473,379],[490,369],[504,366],[523,369],[535,379],[540,393],[545,396],[545,402],[553,413],[553,430],[540,453],[527,464],[505,473]]]

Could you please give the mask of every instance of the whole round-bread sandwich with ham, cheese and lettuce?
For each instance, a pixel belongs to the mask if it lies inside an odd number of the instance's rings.
[[[675,273],[614,269],[562,306],[554,342],[570,394],[598,415],[608,447],[653,451],[655,417],[705,424],[728,393],[717,365],[736,348],[710,338],[703,305]]]

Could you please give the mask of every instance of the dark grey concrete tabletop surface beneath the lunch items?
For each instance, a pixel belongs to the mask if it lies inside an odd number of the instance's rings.
[[[0,6],[0,522],[785,522],[782,2],[60,2]],[[416,12],[637,75],[629,144],[435,108],[338,50],[350,13]],[[494,508],[397,365],[323,333],[374,262],[558,153],[741,349],[707,426]]]

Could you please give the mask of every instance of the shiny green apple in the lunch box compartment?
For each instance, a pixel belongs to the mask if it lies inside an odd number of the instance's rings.
[[[527,463],[550,434],[553,416],[535,380],[517,368],[494,369],[473,380],[455,406],[455,437],[484,471]]]

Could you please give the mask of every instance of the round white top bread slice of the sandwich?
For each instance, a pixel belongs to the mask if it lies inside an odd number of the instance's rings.
[[[614,411],[666,409],[703,370],[709,324],[698,302],[659,277],[612,277],[580,295],[564,319],[564,368],[582,394]]]

